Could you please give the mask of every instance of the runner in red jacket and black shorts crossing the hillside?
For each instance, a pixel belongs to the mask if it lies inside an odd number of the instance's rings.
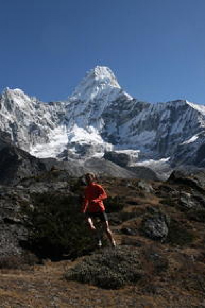
[[[94,183],[95,176],[93,173],[87,173],[85,180],[87,187],[84,191],[84,202],[81,209],[82,213],[85,213],[86,220],[91,230],[96,232],[96,227],[93,225],[93,219],[98,218],[102,223],[103,229],[105,229],[107,236],[113,246],[116,246],[113,234],[109,227],[108,217],[105,213],[105,206],[103,200],[107,198],[105,190],[99,184]],[[88,210],[88,211],[87,211]],[[86,212],[87,211],[87,212]],[[101,239],[99,238],[99,246],[102,246]]]

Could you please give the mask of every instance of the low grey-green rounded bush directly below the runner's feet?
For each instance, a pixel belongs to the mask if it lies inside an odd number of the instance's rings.
[[[136,283],[144,271],[139,261],[137,248],[121,246],[107,248],[86,257],[65,277],[81,283],[89,283],[105,289],[119,289],[124,285]]]

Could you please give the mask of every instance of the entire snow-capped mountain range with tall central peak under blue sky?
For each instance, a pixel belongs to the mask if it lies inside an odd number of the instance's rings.
[[[6,88],[0,105],[0,129],[37,157],[86,159],[115,150],[133,164],[205,166],[205,106],[138,101],[108,67],[89,71],[65,102],[42,103]]]

